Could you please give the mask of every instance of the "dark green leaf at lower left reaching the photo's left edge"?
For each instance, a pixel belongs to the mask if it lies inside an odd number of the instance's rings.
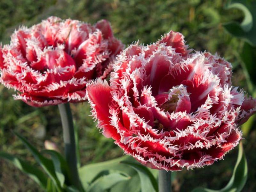
[[[40,186],[46,189],[47,177],[40,169],[31,165],[27,161],[21,160],[20,158],[15,157],[11,154],[5,153],[3,151],[0,151],[0,157],[12,162],[12,164],[14,164],[18,169],[28,174],[28,176],[31,179],[33,179],[34,181],[36,181],[36,183],[38,183]]]

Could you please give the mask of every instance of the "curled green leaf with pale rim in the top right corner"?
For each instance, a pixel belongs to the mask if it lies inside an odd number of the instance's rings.
[[[244,13],[244,20],[239,23],[231,21],[223,24],[232,35],[244,38],[252,46],[256,46],[256,1],[232,0],[227,9],[240,9]]]

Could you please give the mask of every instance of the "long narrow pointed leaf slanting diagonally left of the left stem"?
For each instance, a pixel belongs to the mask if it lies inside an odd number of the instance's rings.
[[[22,135],[17,132],[14,132],[15,135],[22,141],[22,143],[30,150],[30,152],[35,157],[36,161],[43,167],[44,171],[49,175],[52,179],[55,186],[61,191],[60,181],[58,180],[55,172],[54,165],[52,160],[44,157],[35,147],[33,147],[28,140],[26,140]]]

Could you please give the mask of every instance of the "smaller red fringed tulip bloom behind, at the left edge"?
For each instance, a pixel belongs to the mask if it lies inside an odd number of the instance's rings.
[[[81,102],[87,99],[86,84],[105,78],[122,48],[106,20],[91,26],[50,17],[21,27],[0,48],[0,81],[31,106]]]

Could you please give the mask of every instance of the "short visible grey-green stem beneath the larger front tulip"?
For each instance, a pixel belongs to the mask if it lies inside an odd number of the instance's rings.
[[[171,192],[171,172],[165,170],[159,170],[158,172],[158,191],[159,192]]]

